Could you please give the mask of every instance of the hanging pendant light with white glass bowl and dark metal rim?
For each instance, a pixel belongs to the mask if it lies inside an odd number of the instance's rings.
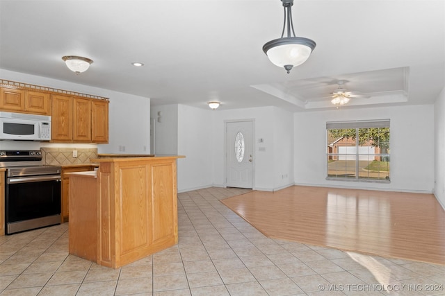
[[[296,37],[292,23],[293,0],[281,1],[284,7],[284,24],[281,38],[264,44],[263,51],[270,62],[278,67],[284,67],[287,73],[290,73],[293,67],[306,62],[309,55],[314,51],[316,43],[305,37]],[[285,30],[287,37],[283,37]]]

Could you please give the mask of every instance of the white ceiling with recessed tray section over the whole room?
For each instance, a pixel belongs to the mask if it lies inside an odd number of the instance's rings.
[[[218,110],[333,108],[339,80],[364,95],[343,108],[428,104],[445,85],[444,0],[295,0],[317,46],[290,74],[262,51],[282,22],[280,0],[0,0],[0,68]]]

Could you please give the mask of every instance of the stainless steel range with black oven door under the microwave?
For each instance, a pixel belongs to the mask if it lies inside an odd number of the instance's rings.
[[[3,150],[0,167],[6,234],[60,224],[60,166],[44,166],[40,150]]]

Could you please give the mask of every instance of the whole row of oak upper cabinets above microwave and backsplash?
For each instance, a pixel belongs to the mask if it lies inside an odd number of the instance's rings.
[[[1,80],[0,111],[51,116],[51,142],[108,143],[107,98]]]

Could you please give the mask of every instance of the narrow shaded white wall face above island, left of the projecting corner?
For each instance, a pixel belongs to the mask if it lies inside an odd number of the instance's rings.
[[[154,154],[178,154],[178,105],[152,106]],[[153,152],[152,152],[153,153]]]

